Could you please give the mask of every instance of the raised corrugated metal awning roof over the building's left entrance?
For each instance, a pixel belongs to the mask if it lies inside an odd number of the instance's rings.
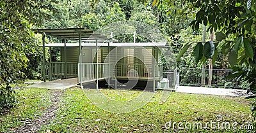
[[[36,33],[45,34],[47,36],[54,36],[60,39],[68,39],[79,41],[79,34],[81,34],[81,41],[106,41],[107,36],[96,34],[90,29],[85,28],[53,28],[53,29],[34,29]]]

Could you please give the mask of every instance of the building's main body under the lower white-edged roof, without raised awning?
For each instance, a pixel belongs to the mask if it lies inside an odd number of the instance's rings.
[[[118,82],[125,83],[127,80],[136,79],[142,86],[136,85],[135,87],[143,87],[145,81],[147,83],[159,81],[161,78],[163,67],[161,67],[159,48],[163,48],[166,43],[109,43],[109,45],[98,43],[97,49],[95,43],[82,43],[81,45],[82,72],[80,73],[78,43],[46,44],[45,47],[50,49],[60,47],[60,62],[50,60],[46,63],[49,68],[46,78],[56,80],[78,77],[77,80],[80,81],[79,74],[81,74],[82,83],[90,83],[98,79],[98,81],[109,80],[108,83],[115,86],[119,85]]]

